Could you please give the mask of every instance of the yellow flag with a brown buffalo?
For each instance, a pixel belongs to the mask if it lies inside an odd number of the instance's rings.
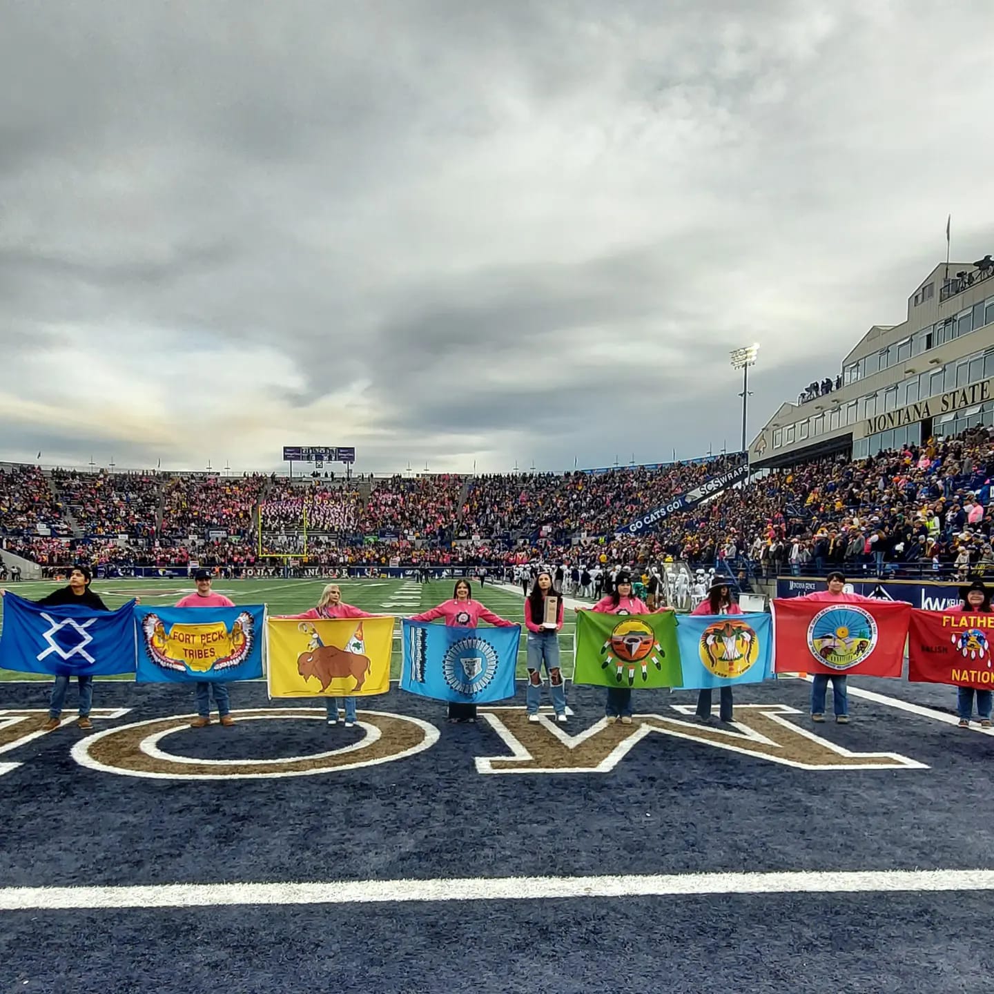
[[[393,617],[272,618],[269,697],[372,697],[390,690]]]

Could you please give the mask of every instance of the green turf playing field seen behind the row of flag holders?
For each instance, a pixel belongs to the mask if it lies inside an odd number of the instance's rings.
[[[214,589],[231,597],[237,604],[268,605],[270,614],[296,614],[317,603],[321,590],[328,580],[216,580]],[[371,613],[396,614],[405,616],[432,607],[452,596],[454,580],[432,580],[416,583],[414,580],[340,580],[342,599]],[[8,584],[22,597],[38,599],[61,583],[30,581]],[[166,606],[176,603],[180,597],[192,593],[194,584],[185,580],[94,580],[93,590],[103,598],[108,607],[117,607],[130,597],[140,596],[143,606]],[[487,584],[482,589],[478,582],[473,583],[473,597],[485,603],[494,613],[522,626],[521,645],[518,649],[518,675],[525,676],[525,631],[522,614],[521,593]],[[0,598],[0,628],[2,628],[2,603]],[[567,610],[560,646],[563,652],[564,669],[573,670],[573,639],[576,629],[576,615]],[[394,630],[394,658],[391,662],[391,677],[398,679],[401,673],[401,623]],[[29,673],[15,673],[0,670],[0,680],[50,680],[51,677],[35,676]],[[105,679],[133,679],[130,676],[107,677]]]

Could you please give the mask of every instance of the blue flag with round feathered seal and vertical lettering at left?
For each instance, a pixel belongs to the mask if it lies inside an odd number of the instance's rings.
[[[514,697],[520,639],[521,625],[461,628],[405,618],[401,689],[455,704]]]

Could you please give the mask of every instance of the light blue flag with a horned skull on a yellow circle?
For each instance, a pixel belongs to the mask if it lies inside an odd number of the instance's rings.
[[[681,690],[759,683],[772,676],[768,614],[682,615],[677,644],[683,668]]]

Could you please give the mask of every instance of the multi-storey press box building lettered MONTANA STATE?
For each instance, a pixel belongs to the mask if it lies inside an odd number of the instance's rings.
[[[946,272],[955,273],[946,277]],[[835,388],[836,375],[832,376]],[[874,325],[842,362],[838,389],[780,407],[749,445],[756,468],[882,449],[994,424],[994,264],[937,265],[908,318]]]

